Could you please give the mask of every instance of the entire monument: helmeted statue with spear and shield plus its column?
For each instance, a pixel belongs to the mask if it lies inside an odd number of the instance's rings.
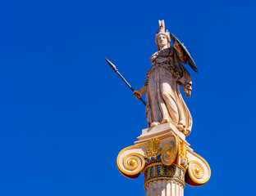
[[[165,31],[164,21],[159,21],[160,32],[156,34],[158,51],[150,57],[144,86],[134,91],[120,75],[137,99],[146,93],[146,117],[148,128],[142,130],[134,143],[117,155],[117,168],[129,179],[144,175],[145,196],[184,196],[185,183],[201,186],[208,182],[211,168],[207,161],[190,147],[186,136],[190,134],[192,118],[181,96],[191,94],[190,73],[184,64],[195,72],[190,53],[173,34]],[[170,38],[171,36],[171,38]],[[170,42],[174,42],[170,47]],[[142,99],[141,99],[142,100]],[[143,101],[144,102],[144,101]]]

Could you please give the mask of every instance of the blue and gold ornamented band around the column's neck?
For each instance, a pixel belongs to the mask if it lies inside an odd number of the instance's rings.
[[[176,165],[166,166],[162,163],[153,163],[144,169],[144,187],[154,180],[176,180],[184,185],[185,171]]]

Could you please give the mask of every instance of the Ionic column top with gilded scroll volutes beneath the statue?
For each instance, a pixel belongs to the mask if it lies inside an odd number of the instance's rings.
[[[146,196],[181,196],[185,183],[204,185],[211,175],[208,163],[171,123],[142,130],[135,145],[118,154],[117,167],[131,179],[143,172]]]

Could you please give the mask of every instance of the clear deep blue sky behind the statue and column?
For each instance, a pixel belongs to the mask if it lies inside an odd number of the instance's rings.
[[[165,20],[199,69],[187,67],[187,140],[212,169],[185,195],[253,195],[255,10],[253,0],[2,1],[0,194],[144,195],[143,175],[116,166],[147,126],[144,105],[104,58],[140,88]]]

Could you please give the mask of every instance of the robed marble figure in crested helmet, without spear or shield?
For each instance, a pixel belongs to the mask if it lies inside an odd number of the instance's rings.
[[[152,67],[146,74],[144,86],[134,91],[134,95],[139,99],[146,93],[146,118],[149,127],[171,122],[188,136],[192,118],[181,96],[180,86],[183,87],[185,96],[190,96],[190,73],[181,64],[181,61],[188,64],[190,57],[182,50],[180,42],[174,42],[170,47],[170,33],[165,31],[164,20],[158,20],[158,23],[160,31],[155,38],[158,51],[150,57]]]

